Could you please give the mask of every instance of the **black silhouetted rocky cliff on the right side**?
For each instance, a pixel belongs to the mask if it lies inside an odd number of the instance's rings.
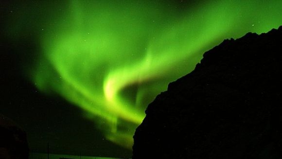
[[[133,159],[281,159],[282,26],[224,40],[147,107]]]

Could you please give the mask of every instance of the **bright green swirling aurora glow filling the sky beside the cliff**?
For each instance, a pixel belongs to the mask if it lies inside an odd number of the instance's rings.
[[[42,92],[85,110],[107,140],[129,149],[146,106],[192,71],[202,53],[225,38],[282,25],[282,0],[211,0],[185,8],[152,0],[68,4],[40,32],[31,79]]]

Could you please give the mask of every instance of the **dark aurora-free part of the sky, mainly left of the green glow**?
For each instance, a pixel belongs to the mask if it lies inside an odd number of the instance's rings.
[[[57,1],[48,2],[52,6]],[[49,13],[44,13],[46,7],[40,5],[44,2],[0,1],[0,113],[11,118],[27,132],[32,152],[46,152],[49,142],[51,153],[130,157],[130,150],[105,140],[103,134],[95,128],[95,124],[81,116],[80,108],[56,95],[39,92],[34,84],[27,80],[23,68],[26,63],[35,60],[40,46],[38,35],[36,32],[28,32],[13,40],[13,36],[18,36],[17,33],[7,35],[5,30],[14,25],[10,23],[11,19],[18,18],[12,13],[18,10],[29,13],[25,8],[29,8],[27,6],[32,3],[39,7],[37,10],[40,14],[48,16]],[[172,4],[182,10],[188,4],[194,4],[194,1],[176,0]],[[50,9],[50,6],[48,7]],[[35,29],[44,20],[28,18],[30,19],[23,21],[26,25],[22,27],[31,27],[30,30]],[[35,21],[35,26],[28,25],[30,20]]]

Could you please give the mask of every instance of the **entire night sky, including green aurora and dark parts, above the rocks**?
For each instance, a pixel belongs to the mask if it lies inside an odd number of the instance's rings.
[[[0,113],[32,152],[130,157],[146,106],[223,39],[282,25],[281,0],[0,1]]]

